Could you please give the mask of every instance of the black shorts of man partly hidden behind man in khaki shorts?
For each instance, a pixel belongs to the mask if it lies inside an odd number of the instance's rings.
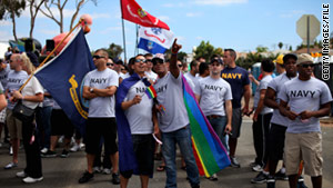
[[[271,123],[269,135],[269,158],[270,160],[283,159],[284,139],[286,127]]]

